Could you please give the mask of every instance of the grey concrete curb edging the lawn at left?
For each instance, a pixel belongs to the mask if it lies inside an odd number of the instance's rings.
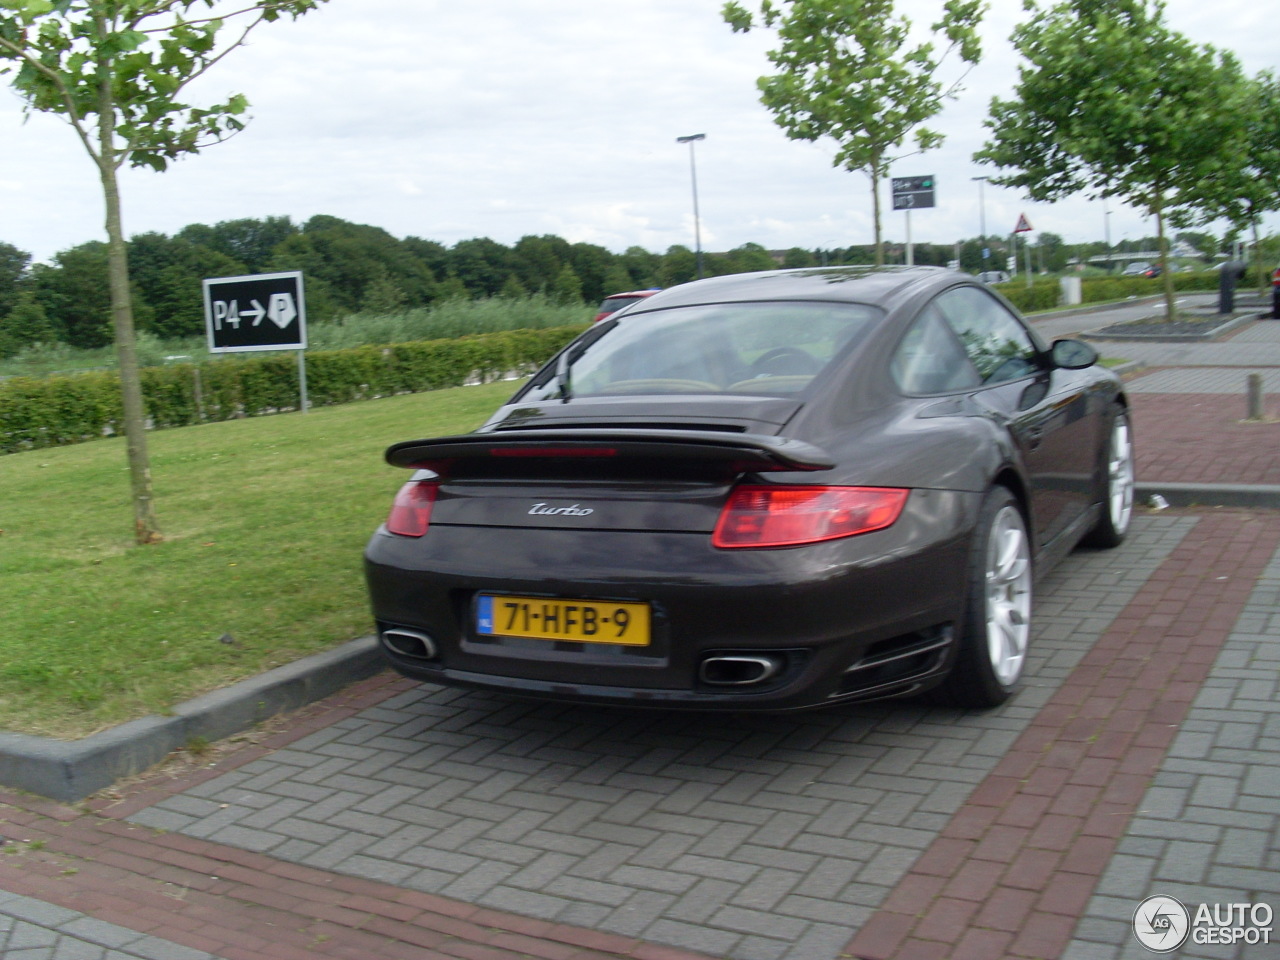
[[[0,731],[0,783],[72,803],[141,773],[193,739],[220,740],[378,673],[372,636],[250,677],[179,704],[169,717],[143,717],[83,740]]]

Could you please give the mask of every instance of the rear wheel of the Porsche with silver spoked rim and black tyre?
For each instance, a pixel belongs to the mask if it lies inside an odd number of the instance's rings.
[[[969,550],[969,594],[956,659],[934,700],[952,707],[1005,703],[1027,663],[1032,618],[1030,538],[1004,486],[987,493]]]

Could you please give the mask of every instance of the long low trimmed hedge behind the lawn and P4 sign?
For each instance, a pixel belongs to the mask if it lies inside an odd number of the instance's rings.
[[[314,407],[420,393],[527,374],[584,326],[508,330],[447,340],[316,351],[306,355]],[[238,355],[142,371],[152,428],[297,410],[296,353]],[[115,372],[17,376],[0,381],[0,453],[82,443],[123,431]]]

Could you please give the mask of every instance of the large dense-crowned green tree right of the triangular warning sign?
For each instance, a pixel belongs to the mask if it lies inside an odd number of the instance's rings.
[[[1204,204],[1204,187],[1245,148],[1235,60],[1164,22],[1161,0],[1064,0],[1015,28],[1025,58],[1014,100],[992,100],[977,160],[993,183],[1052,201],[1085,191],[1156,219],[1166,316],[1174,319],[1165,221]]]

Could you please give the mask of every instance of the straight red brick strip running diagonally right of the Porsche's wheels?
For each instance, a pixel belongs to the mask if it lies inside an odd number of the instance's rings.
[[[1061,956],[1277,544],[1202,516],[845,952]]]

